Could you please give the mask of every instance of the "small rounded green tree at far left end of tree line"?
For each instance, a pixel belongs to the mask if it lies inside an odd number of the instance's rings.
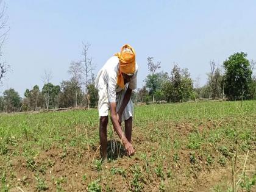
[[[5,90],[4,96],[4,107],[7,113],[18,112],[21,105],[21,98],[18,92],[13,88]]]

